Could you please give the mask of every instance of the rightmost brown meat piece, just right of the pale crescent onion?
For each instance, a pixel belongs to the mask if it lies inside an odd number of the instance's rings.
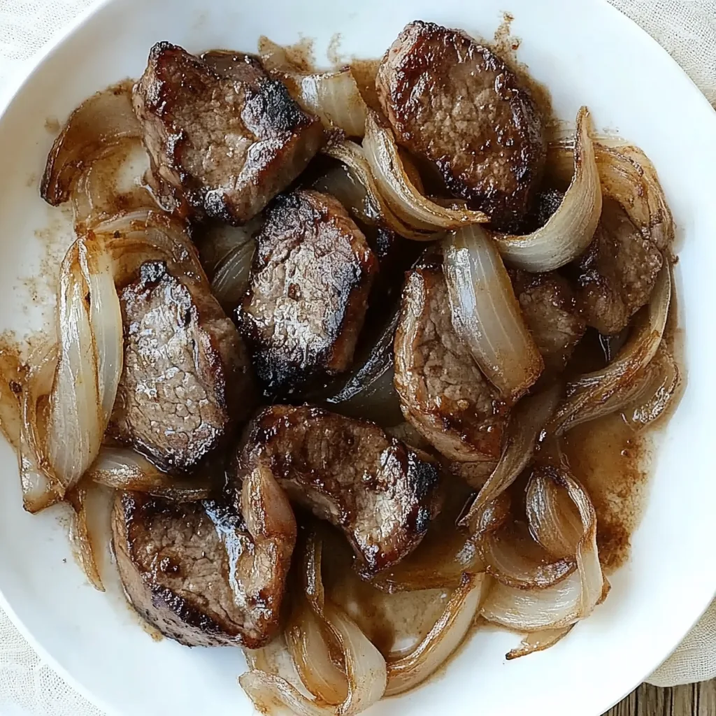
[[[577,306],[586,323],[602,334],[624,329],[649,302],[662,262],[657,246],[605,197],[594,241],[575,266]]]

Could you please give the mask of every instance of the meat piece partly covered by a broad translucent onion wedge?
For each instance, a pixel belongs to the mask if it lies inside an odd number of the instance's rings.
[[[407,275],[395,334],[395,387],[405,420],[450,460],[493,463],[506,410],[450,320],[437,266]]]

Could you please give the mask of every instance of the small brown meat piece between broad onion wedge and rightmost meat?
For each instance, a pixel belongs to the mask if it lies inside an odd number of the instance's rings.
[[[511,277],[546,369],[561,372],[586,330],[569,281],[555,272],[511,271]]]

